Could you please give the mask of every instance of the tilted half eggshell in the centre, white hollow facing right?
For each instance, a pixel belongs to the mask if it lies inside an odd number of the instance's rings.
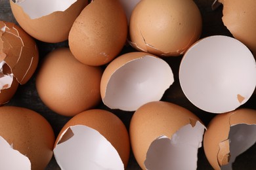
[[[100,94],[111,109],[133,111],[150,101],[159,101],[173,81],[171,67],[163,59],[145,52],[129,52],[106,67]]]

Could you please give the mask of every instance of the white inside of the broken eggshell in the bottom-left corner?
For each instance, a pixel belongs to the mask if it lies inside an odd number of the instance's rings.
[[[31,169],[28,157],[14,150],[12,146],[0,136],[0,169]]]

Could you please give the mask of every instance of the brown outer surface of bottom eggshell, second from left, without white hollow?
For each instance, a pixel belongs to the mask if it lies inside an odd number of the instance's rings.
[[[54,148],[56,148],[56,146],[60,143],[60,137],[63,135],[62,133],[64,133],[64,131],[66,131],[66,129],[68,129],[69,127],[77,125],[91,127],[92,129],[98,131],[114,146],[114,148],[116,148],[121,160],[123,161],[124,167],[127,166],[130,152],[129,135],[125,125],[115,114],[112,114],[112,112],[109,112],[107,110],[91,109],[75,115],[65,124],[64,127],[62,127],[56,139]],[[87,138],[92,137],[93,136],[88,135]],[[65,139],[65,141],[66,140],[68,139]],[[97,152],[98,154],[100,154],[100,152],[104,151],[98,150]],[[58,161],[58,158],[56,158],[56,160]],[[70,162],[72,162],[72,160],[70,160]]]

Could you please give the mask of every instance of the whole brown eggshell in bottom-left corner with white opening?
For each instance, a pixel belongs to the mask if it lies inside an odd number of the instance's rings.
[[[0,107],[0,169],[45,169],[53,156],[54,133],[37,112],[21,107]],[[5,160],[5,161],[3,161]]]

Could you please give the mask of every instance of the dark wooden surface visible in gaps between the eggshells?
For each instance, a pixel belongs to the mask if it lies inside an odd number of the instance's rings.
[[[226,27],[224,27],[223,22],[221,20],[222,17],[222,7],[219,7],[217,10],[211,10],[211,3],[213,3],[214,0],[195,0],[196,4],[198,5],[203,18],[203,32],[202,37],[207,37],[209,35],[229,35],[230,32]],[[14,17],[12,16],[12,12],[9,5],[9,0],[0,0],[0,20],[5,20],[8,22],[15,22]],[[36,41],[37,45],[39,46],[39,52],[40,52],[40,59],[43,59],[46,54],[48,54],[51,50],[54,48],[57,48],[58,46],[68,46],[68,42],[62,42],[58,44],[49,44],[45,42]],[[125,46],[123,48],[123,52],[129,52],[133,50],[129,46]],[[178,77],[178,71],[179,71],[179,63],[181,61],[182,56],[177,58],[165,58],[165,61],[169,63],[171,68],[173,69],[173,73],[175,75],[175,82],[174,84],[165,92],[163,95],[163,98],[161,100],[163,101],[169,101],[172,103],[176,103],[178,105],[181,105],[182,107],[185,107],[186,109],[191,110],[196,114],[198,117],[200,117],[203,121],[203,123],[207,126],[211,118],[215,116],[215,114],[211,114],[209,112],[204,112],[192,105],[188,99],[184,96],[182,93],[181,87],[179,85],[179,77]],[[39,112],[42,114],[51,124],[51,126],[54,129],[55,135],[58,135],[58,132],[64,126],[64,124],[70,119],[68,117],[60,116],[53,111],[49,110],[39,99],[37,95],[37,91],[35,89],[35,75],[37,72],[35,72],[34,76],[31,78],[31,80],[22,86],[19,86],[18,91],[14,95],[14,97],[11,99],[11,101],[7,105],[15,105],[18,107],[26,107],[28,109],[35,110],[36,112]],[[256,96],[255,93],[253,96],[243,105],[242,107],[247,107],[251,109],[256,109]],[[100,109],[108,109],[106,106],[104,106],[102,103],[98,105],[97,108]],[[119,118],[124,122],[127,129],[129,129],[129,122],[131,120],[131,116],[133,115],[133,112],[125,112],[121,110],[111,110],[114,114],[119,116]],[[256,144],[249,148],[244,154],[238,156],[236,159],[236,162],[234,163],[234,169],[256,169]],[[186,162],[184,162],[186,163]],[[53,160],[49,163],[47,169],[60,169],[56,163],[56,161]],[[131,153],[131,158],[129,160],[129,165],[127,169],[140,169],[139,165],[135,161],[135,158],[133,157],[133,154]],[[198,153],[198,169],[212,169],[209,165],[208,161],[205,158],[205,155],[203,153],[203,148],[199,149]]]

